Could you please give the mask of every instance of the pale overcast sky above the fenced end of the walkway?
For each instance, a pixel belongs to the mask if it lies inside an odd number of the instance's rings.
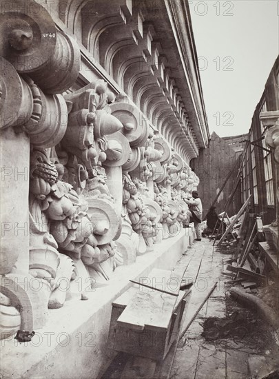
[[[209,132],[247,133],[279,54],[279,1],[189,0]]]

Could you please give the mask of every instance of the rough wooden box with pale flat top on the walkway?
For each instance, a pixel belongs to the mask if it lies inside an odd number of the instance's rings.
[[[165,271],[165,270],[160,270]],[[133,286],[112,303],[108,347],[163,360],[177,340],[190,291],[178,296]]]

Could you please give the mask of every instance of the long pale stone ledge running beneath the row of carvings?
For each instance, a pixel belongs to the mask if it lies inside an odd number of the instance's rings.
[[[87,292],[88,300],[72,298],[62,308],[50,309],[47,324],[32,342],[2,340],[1,378],[97,378],[114,357],[107,350],[112,301],[130,287],[130,279],[145,276],[154,267],[172,269],[192,234],[192,228],[182,229],[178,236],[154,245],[154,252],[138,256],[134,264],[118,267],[109,285]]]

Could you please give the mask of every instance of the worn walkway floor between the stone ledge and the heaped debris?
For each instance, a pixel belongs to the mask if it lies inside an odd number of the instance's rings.
[[[257,346],[254,346],[253,342],[254,336],[249,338],[249,343],[245,341],[243,344],[231,339],[207,342],[201,336],[205,318],[225,318],[227,303],[231,301],[229,295],[226,301],[225,291],[225,282],[230,278],[222,274],[223,265],[226,265],[230,258],[227,253],[221,254],[218,248],[213,247],[212,241],[202,238],[201,243],[196,242],[187,249],[176,266],[180,272],[187,267],[185,278],[194,281],[192,298],[182,330],[205,299],[209,289],[216,281],[218,284],[192,325],[180,339],[170,379],[249,378],[248,358],[255,354],[265,354],[265,349],[257,351]],[[238,307],[237,304],[236,307]],[[227,309],[227,314],[228,310],[231,311],[231,309]],[[266,350],[266,354],[269,354],[269,350]]]

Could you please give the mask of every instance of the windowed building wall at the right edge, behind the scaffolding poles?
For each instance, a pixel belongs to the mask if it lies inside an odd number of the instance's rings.
[[[276,220],[278,174],[276,174],[274,150],[266,143],[268,127],[260,121],[260,113],[279,109],[278,74],[279,58],[273,65],[265,91],[253,114],[249,130],[251,144],[243,164],[245,167],[242,167],[242,201],[245,201],[248,194],[252,192],[252,208],[254,212],[261,214],[265,224]]]

